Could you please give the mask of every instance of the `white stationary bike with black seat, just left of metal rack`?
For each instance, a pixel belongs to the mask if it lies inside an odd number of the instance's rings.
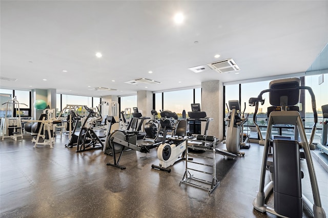
[[[152,168],[159,170],[166,170],[171,172],[168,168],[175,162],[184,159],[186,150],[186,130],[187,121],[178,120],[176,126],[172,126],[170,120],[163,119],[160,121],[161,128],[163,129],[162,144],[157,148],[157,158],[159,159],[159,165],[152,164]],[[173,137],[166,140],[167,131],[174,132]]]

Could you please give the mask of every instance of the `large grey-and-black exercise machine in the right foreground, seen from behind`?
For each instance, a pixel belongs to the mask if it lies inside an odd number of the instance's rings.
[[[306,139],[305,129],[299,112],[286,110],[286,107],[299,103],[300,90],[308,90],[312,99],[314,125],[309,142]],[[257,98],[250,98],[249,103],[255,106],[255,112],[258,110],[259,102],[264,103],[262,99],[264,93],[269,93],[270,104],[280,106],[281,111],[273,111],[269,116],[267,135],[264,140],[259,191],[253,201],[253,207],[260,212],[269,212],[280,217],[302,217],[303,206],[305,206],[314,217],[326,217],[321,205],[319,187],[310,152],[310,145],[313,142],[318,121],[314,93],[310,87],[300,86],[299,78],[273,80],[269,84],[269,89],[260,92]],[[277,124],[294,125],[298,130],[300,141],[272,140],[272,128],[273,125]],[[298,137],[295,137],[295,139],[298,139]],[[273,163],[269,167],[271,181],[264,185],[267,165],[270,162],[268,158],[270,146],[273,146]],[[305,161],[308,166],[306,175],[309,175],[311,181],[314,203],[311,203],[302,194],[301,179],[304,177],[304,173],[300,168],[300,148],[304,150]],[[272,190],[274,208],[265,204]]]

